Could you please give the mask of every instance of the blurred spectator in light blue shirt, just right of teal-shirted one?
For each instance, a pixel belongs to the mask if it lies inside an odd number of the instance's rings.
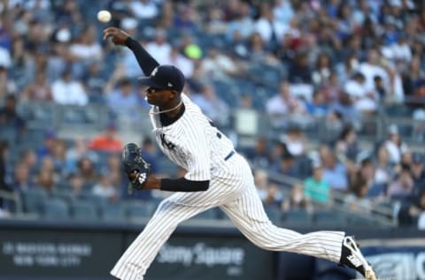
[[[346,191],[348,178],[344,164],[337,162],[336,155],[327,147],[322,147],[320,154],[324,166],[323,180],[328,182],[333,190]]]

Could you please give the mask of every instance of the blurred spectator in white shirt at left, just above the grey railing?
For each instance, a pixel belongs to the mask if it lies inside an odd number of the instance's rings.
[[[74,80],[70,69],[51,85],[53,101],[61,105],[87,105],[89,98],[81,83]]]

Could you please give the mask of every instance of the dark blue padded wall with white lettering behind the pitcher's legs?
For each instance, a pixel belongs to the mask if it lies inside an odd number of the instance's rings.
[[[143,224],[2,221],[0,279],[109,279]],[[295,229],[301,232],[325,229]],[[326,229],[328,230],[328,229]],[[341,229],[336,229],[341,230]],[[386,279],[425,279],[425,232],[346,229]],[[267,252],[235,228],[182,225],[162,247],[147,279],[345,280],[351,269],[312,257]]]

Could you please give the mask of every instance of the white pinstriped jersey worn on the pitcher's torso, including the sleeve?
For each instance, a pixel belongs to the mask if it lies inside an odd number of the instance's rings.
[[[218,174],[225,157],[234,150],[233,143],[206,117],[197,104],[182,94],[185,111],[171,125],[162,126],[159,114],[150,114],[159,148],[171,161],[188,170],[185,178],[210,180]],[[158,107],[152,107],[158,111]]]

